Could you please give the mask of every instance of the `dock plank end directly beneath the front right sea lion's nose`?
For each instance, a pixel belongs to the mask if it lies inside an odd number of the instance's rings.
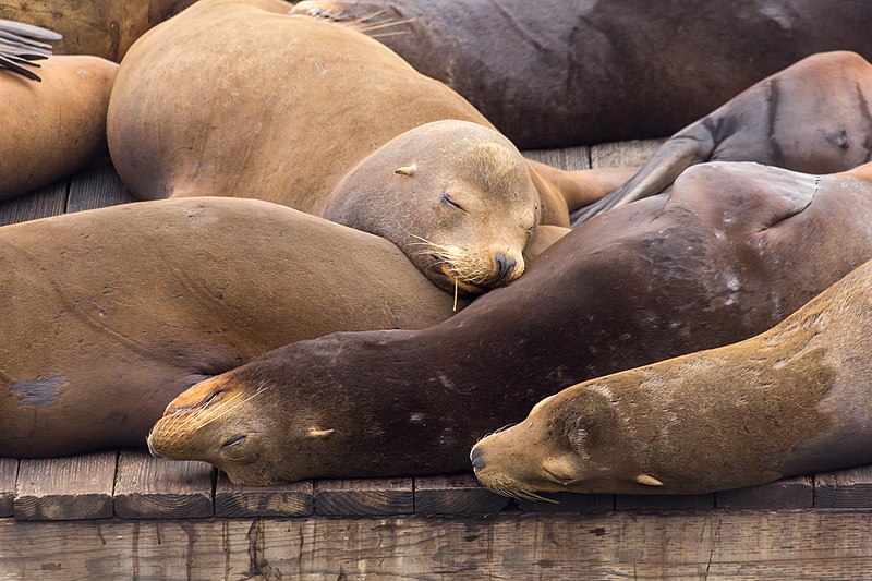
[[[509,504],[483,487],[472,474],[414,479],[419,515],[493,515]]]

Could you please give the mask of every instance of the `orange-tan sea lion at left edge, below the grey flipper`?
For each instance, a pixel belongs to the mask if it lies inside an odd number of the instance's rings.
[[[118,64],[99,57],[39,61],[41,83],[0,74],[0,199],[105,157],[106,109]]]

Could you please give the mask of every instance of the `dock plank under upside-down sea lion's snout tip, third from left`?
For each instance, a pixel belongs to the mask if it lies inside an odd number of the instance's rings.
[[[203,519],[213,513],[213,468],[122,451],[116,515],[122,519]]]

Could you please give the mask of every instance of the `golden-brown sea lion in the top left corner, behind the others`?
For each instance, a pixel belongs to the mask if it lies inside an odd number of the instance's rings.
[[[196,0],[3,0],[3,17],[63,35],[59,55],[93,55],[114,62],[143,33]]]

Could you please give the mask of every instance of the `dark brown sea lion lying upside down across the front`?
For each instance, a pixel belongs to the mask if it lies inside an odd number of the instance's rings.
[[[149,446],[242,484],[469,470],[477,437],[546,396],[772,327],[872,258],[870,216],[872,167],[695,166],[445,323],[301,341],[193,386]]]

